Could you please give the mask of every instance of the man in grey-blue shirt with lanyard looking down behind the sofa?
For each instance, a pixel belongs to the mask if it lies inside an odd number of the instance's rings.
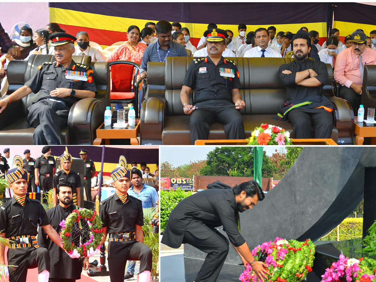
[[[165,62],[167,57],[187,57],[183,45],[171,40],[172,25],[168,21],[158,21],[155,25],[158,41],[150,44],[144,51],[140,73],[147,75],[147,62]]]

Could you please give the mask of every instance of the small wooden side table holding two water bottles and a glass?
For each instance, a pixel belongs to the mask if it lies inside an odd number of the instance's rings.
[[[110,139],[128,139],[130,138],[130,144],[139,145],[137,136],[140,132],[140,119],[136,120],[135,126],[129,126],[125,128],[113,128],[113,124],[117,121],[116,118],[112,118],[111,126],[104,125],[103,123],[97,128],[97,138],[94,140],[93,145],[102,144],[103,139],[105,139],[105,145],[110,144]],[[127,120],[126,120],[127,122]]]

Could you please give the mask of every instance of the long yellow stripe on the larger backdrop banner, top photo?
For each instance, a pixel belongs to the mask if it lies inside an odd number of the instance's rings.
[[[49,8],[50,10],[50,21],[52,23],[58,24],[68,24],[71,26],[82,26],[89,27],[93,29],[102,30],[112,30],[119,32],[126,32],[128,27],[131,25],[136,25],[140,29],[148,21],[158,22],[158,19],[135,19],[135,18],[123,18],[114,17],[100,14],[92,14],[86,12],[79,12],[73,10],[66,10],[60,8]],[[172,23],[172,22],[170,22]],[[190,30],[191,38],[201,38],[204,32],[208,29],[208,24],[199,23],[180,23],[182,27],[187,27]],[[264,24],[264,25],[247,25],[247,31],[256,30],[259,27],[268,28],[269,26],[275,26],[277,32],[279,31],[290,31],[296,33],[300,27],[305,26],[308,30],[316,30],[320,37],[327,37],[326,23],[296,23],[296,24]],[[229,29],[234,33],[234,36],[238,36],[238,25],[236,24],[219,24],[220,29]],[[151,168],[150,168],[151,170]]]

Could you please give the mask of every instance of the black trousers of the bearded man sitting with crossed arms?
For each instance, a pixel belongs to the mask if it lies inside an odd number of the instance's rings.
[[[293,131],[297,139],[312,138],[312,127],[315,131],[315,138],[331,138],[332,136],[333,115],[328,111],[312,113],[293,109],[288,113],[288,119],[294,126]]]

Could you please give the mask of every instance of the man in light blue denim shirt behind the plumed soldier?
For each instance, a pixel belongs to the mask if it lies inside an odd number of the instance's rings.
[[[130,187],[127,191],[128,195],[141,200],[143,208],[156,207],[156,202],[158,201],[157,191],[154,187],[147,186],[142,182],[142,173],[137,168],[132,169],[130,182],[132,183],[132,187]],[[124,280],[133,279],[133,274],[135,273],[135,265],[135,261],[129,261],[127,274],[125,274]]]

